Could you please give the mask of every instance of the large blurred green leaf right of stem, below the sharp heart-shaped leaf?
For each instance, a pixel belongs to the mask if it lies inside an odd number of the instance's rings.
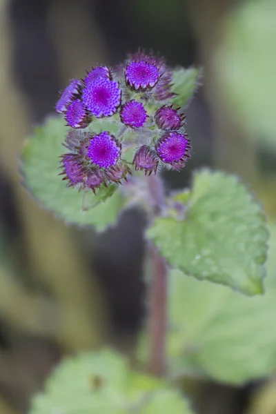
[[[276,365],[276,226],[270,226],[266,294],[246,297],[170,273],[168,355],[172,376],[190,371],[243,384]],[[192,370],[190,369],[192,368]]]

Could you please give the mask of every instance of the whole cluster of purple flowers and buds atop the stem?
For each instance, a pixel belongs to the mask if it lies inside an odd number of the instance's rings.
[[[131,137],[132,148],[137,148],[132,160],[136,171],[150,175],[159,166],[184,167],[191,147],[186,117],[173,106],[172,75],[162,57],[138,50],[115,70],[97,66],[71,81],[56,105],[73,128],[64,144],[69,152],[61,156],[68,186],[95,192],[127,179],[131,163],[124,159],[126,136],[128,146]],[[111,123],[119,126],[117,137],[108,130],[93,132],[93,121],[103,117],[112,117]]]

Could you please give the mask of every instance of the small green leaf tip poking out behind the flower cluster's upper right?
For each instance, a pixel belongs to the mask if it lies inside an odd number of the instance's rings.
[[[199,69],[180,68],[174,70],[172,76],[172,92],[177,93],[173,103],[179,106],[187,106],[199,86]]]

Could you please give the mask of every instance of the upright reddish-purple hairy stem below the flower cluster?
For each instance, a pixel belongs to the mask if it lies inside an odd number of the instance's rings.
[[[152,215],[157,217],[165,202],[164,189],[158,175],[148,177],[148,195],[152,204]],[[151,245],[152,274],[150,275],[150,360],[149,371],[157,377],[166,368],[166,331],[167,331],[167,275],[166,261]]]

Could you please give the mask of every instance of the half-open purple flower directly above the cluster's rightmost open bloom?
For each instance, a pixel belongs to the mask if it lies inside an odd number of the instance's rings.
[[[157,126],[164,130],[177,130],[185,124],[185,115],[179,114],[177,109],[173,109],[172,105],[170,106],[161,106],[155,112],[155,122]]]

